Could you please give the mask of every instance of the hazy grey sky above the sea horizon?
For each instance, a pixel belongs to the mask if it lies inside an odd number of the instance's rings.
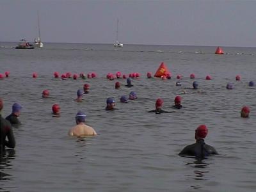
[[[0,41],[256,47],[256,1],[0,0]]]

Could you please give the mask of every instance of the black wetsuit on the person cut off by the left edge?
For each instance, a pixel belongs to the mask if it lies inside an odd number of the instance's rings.
[[[10,122],[8,122],[8,120],[5,120],[1,115],[0,115],[0,131],[1,131],[0,154],[2,155],[5,150],[5,146],[10,148],[15,148],[15,138],[13,136],[12,126]],[[8,140],[5,140],[6,136]]]

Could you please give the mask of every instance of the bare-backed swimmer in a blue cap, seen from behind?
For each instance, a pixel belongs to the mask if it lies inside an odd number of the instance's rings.
[[[94,136],[97,132],[89,125],[84,124],[86,115],[82,111],[78,111],[76,114],[76,126],[72,127],[68,131],[69,136],[84,137]]]

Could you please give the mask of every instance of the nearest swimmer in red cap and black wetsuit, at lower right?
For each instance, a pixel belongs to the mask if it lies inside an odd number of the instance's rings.
[[[207,145],[204,142],[204,138],[207,136],[208,129],[205,125],[200,125],[195,131],[196,143],[186,146],[179,156],[194,156],[196,159],[204,159],[207,156],[218,155],[218,152],[211,145]]]

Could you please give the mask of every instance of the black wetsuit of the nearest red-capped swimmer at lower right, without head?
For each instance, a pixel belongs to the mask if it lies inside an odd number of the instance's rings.
[[[204,139],[196,140],[196,143],[186,146],[179,156],[195,156],[197,159],[204,159],[204,157],[217,155],[218,152],[211,145],[204,143]]]

